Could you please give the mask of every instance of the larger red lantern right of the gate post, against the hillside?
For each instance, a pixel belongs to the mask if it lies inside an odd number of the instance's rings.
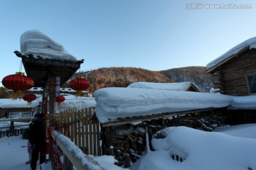
[[[77,91],[77,96],[82,96],[82,91],[89,88],[90,83],[85,79],[85,77],[77,77],[70,81],[70,88]]]

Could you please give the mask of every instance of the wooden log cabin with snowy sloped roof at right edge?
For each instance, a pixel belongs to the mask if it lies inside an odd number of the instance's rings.
[[[256,95],[256,37],[233,47],[207,65],[214,88],[231,96]]]

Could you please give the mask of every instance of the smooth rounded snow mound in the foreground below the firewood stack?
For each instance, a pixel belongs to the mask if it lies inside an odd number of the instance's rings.
[[[256,168],[255,139],[226,135],[225,132],[204,132],[186,127],[166,128],[159,133],[164,138],[151,140],[155,151],[146,153],[132,166],[132,170],[245,170]],[[174,158],[176,155],[181,157],[183,162],[172,159],[173,155]]]

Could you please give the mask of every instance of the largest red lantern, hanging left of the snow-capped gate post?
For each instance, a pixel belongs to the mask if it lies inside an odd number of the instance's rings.
[[[23,72],[16,72],[16,74],[11,74],[2,79],[2,84],[7,88],[14,90],[14,95],[12,98],[17,99],[23,91],[31,89],[34,85],[33,79],[24,76]]]

